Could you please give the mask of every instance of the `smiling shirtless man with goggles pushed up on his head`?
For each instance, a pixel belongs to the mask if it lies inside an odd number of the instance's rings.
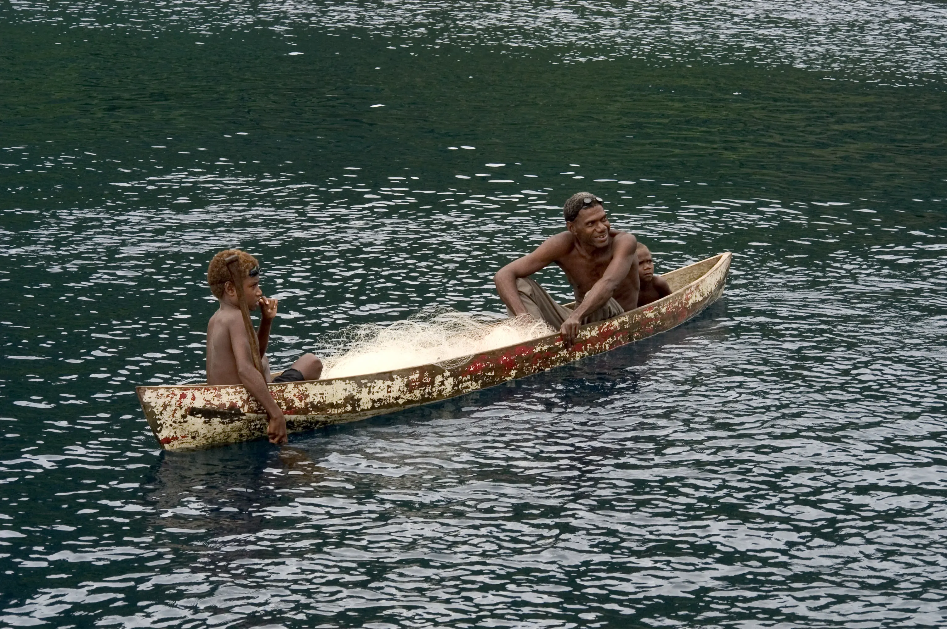
[[[612,229],[601,199],[588,192],[569,197],[563,207],[565,232],[552,236],[493,277],[511,316],[529,314],[558,327],[572,345],[583,323],[603,321],[638,306],[637,240]],[[529,278],[556,263],[575,288],[575,309],[561,306]]]

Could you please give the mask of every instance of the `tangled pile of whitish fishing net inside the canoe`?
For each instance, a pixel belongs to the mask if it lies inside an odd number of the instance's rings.
[[[450,308],[429,308],[395,323],[353,325],[320,341],[322,378],[361,376],[436,363],[452,366],[480,352],[555,332],[528,315],[484,320]]]

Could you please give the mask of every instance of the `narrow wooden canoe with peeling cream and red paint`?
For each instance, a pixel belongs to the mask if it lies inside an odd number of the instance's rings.
[[[271,384],[291,431],[351,422],[485,389],[600,354],[670,330],[724,292],[730,253],[720,253],[662,275],[674,291],[614,319],[581,327],[566,348],[559,334],[453,360],[452,366],[421,365],[393,372]],[[240,385],[190,384],[138,387],[138,399],[154,436],[168,450],[221,446],[259,439],[266,415]]]

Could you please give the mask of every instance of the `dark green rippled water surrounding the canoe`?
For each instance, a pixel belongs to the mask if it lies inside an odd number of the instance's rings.
[[[0,627],[947,622],[942,4],[0,17]],[[288,363],[499,311],[582,189],[658,272],[734,252],[724,299],[284,448],[157,449],[134,386],[202,376],[216,251],[259,255]]]

